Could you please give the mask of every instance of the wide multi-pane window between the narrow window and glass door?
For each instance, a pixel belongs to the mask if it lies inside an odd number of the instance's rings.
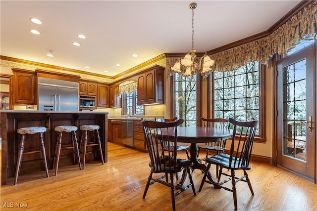
[[[261,122],[260,69],[259,62],[248,62],[235,71],[214,71],[214,118],[233,118],[241,122],[255,118]],[[258,129],[258,135],[259,132]]]

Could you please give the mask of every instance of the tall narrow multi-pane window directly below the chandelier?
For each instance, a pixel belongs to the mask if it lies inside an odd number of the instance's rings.
[[[196,126],[197,106],[196,106],[196,75],[183,77],[174,74],[175,90],[175,116],[184,119],[181,126]]]

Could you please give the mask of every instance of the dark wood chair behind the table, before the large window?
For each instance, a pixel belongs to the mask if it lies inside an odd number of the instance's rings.
[[[214,119],[205,119],[201,117],[201,120],[204,122],[204,127],[208,127],[208,124],[210,127],[218,127],[218,128],[229,128],[230,123],[227,119],[223,118],[214,118]],[[198,146],[198,154],[197,157],[199,156],[199,152],[201,149],[206,150],[206,157],[201,159],[205,160],[208,158],[209,155],[217,155],[220,153],[224,153],[225,145],[226,145],[226,139],[221,139],[220,141],[217,142],[207,142],[205,143],[204,146]],[[218,177],[218,166],[216,166],[216,177]]]

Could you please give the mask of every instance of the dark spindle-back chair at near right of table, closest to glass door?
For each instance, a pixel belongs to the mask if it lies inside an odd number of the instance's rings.
[[[247,171],[250,170],[249,166],[252,146],[254,142],[254,137],[258,125],[258,121],[252,120],[250,122],[238,122],[234,119],[230,118],[229,123],[232,124],[233,127],[233,136],[230,147],[230,154],[220,153],[218,155],[212,156],[211,158],[206,158],[205,161],[208,163],[207,169],[209,170],[211,164],[218,165],[219,176],[218,182],[212,182],[206,180],[207,171],[204,174],[202,183],[200,185],[199,191],[202,190],[205,182],[213,184],[215,187],[223,188],[227,191],[231,191],[233,193],[233,201],[234,208],[237,210],[237,190],[236,190],[236,182],[244,181],[248,183],[251,194],[254,195],[250,179],[248,177]],[[223,173],[222,168],[230,169],[231,175]],[[237,177],[235,175],[235,170],[243,170],[244,175],[241,177]],[[226,179],[220,182],[221,175],[225,175]],[[230,181],[232,182],[232,188],[228,188],[227,186],[222,186],[224,183]]]

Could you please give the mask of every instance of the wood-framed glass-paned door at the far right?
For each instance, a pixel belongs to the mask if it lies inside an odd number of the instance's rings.
[[[277,165],[315,179],[315,46],[277,63]]]

